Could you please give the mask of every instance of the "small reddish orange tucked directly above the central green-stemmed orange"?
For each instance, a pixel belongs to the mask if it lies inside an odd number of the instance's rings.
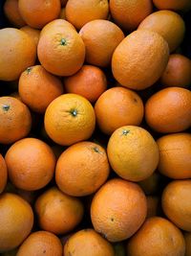
[[[107,79],[104,72],[93,65],[83,65],[73,76],[64,79],[66,92],[76,93],[91,103],[107,88]]]

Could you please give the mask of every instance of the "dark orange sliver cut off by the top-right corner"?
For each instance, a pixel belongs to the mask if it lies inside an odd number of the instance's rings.
[[[159,10],[189,11],[191,9],[190,0],[153,0],[153,3]]]

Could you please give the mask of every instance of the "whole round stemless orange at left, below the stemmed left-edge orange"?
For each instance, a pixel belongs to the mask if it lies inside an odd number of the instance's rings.
[[[38,190],[53,178],[55,156],[50,146],[39,139],[17,141],[11,145],[5,159],[11,183],[17,188]]]

